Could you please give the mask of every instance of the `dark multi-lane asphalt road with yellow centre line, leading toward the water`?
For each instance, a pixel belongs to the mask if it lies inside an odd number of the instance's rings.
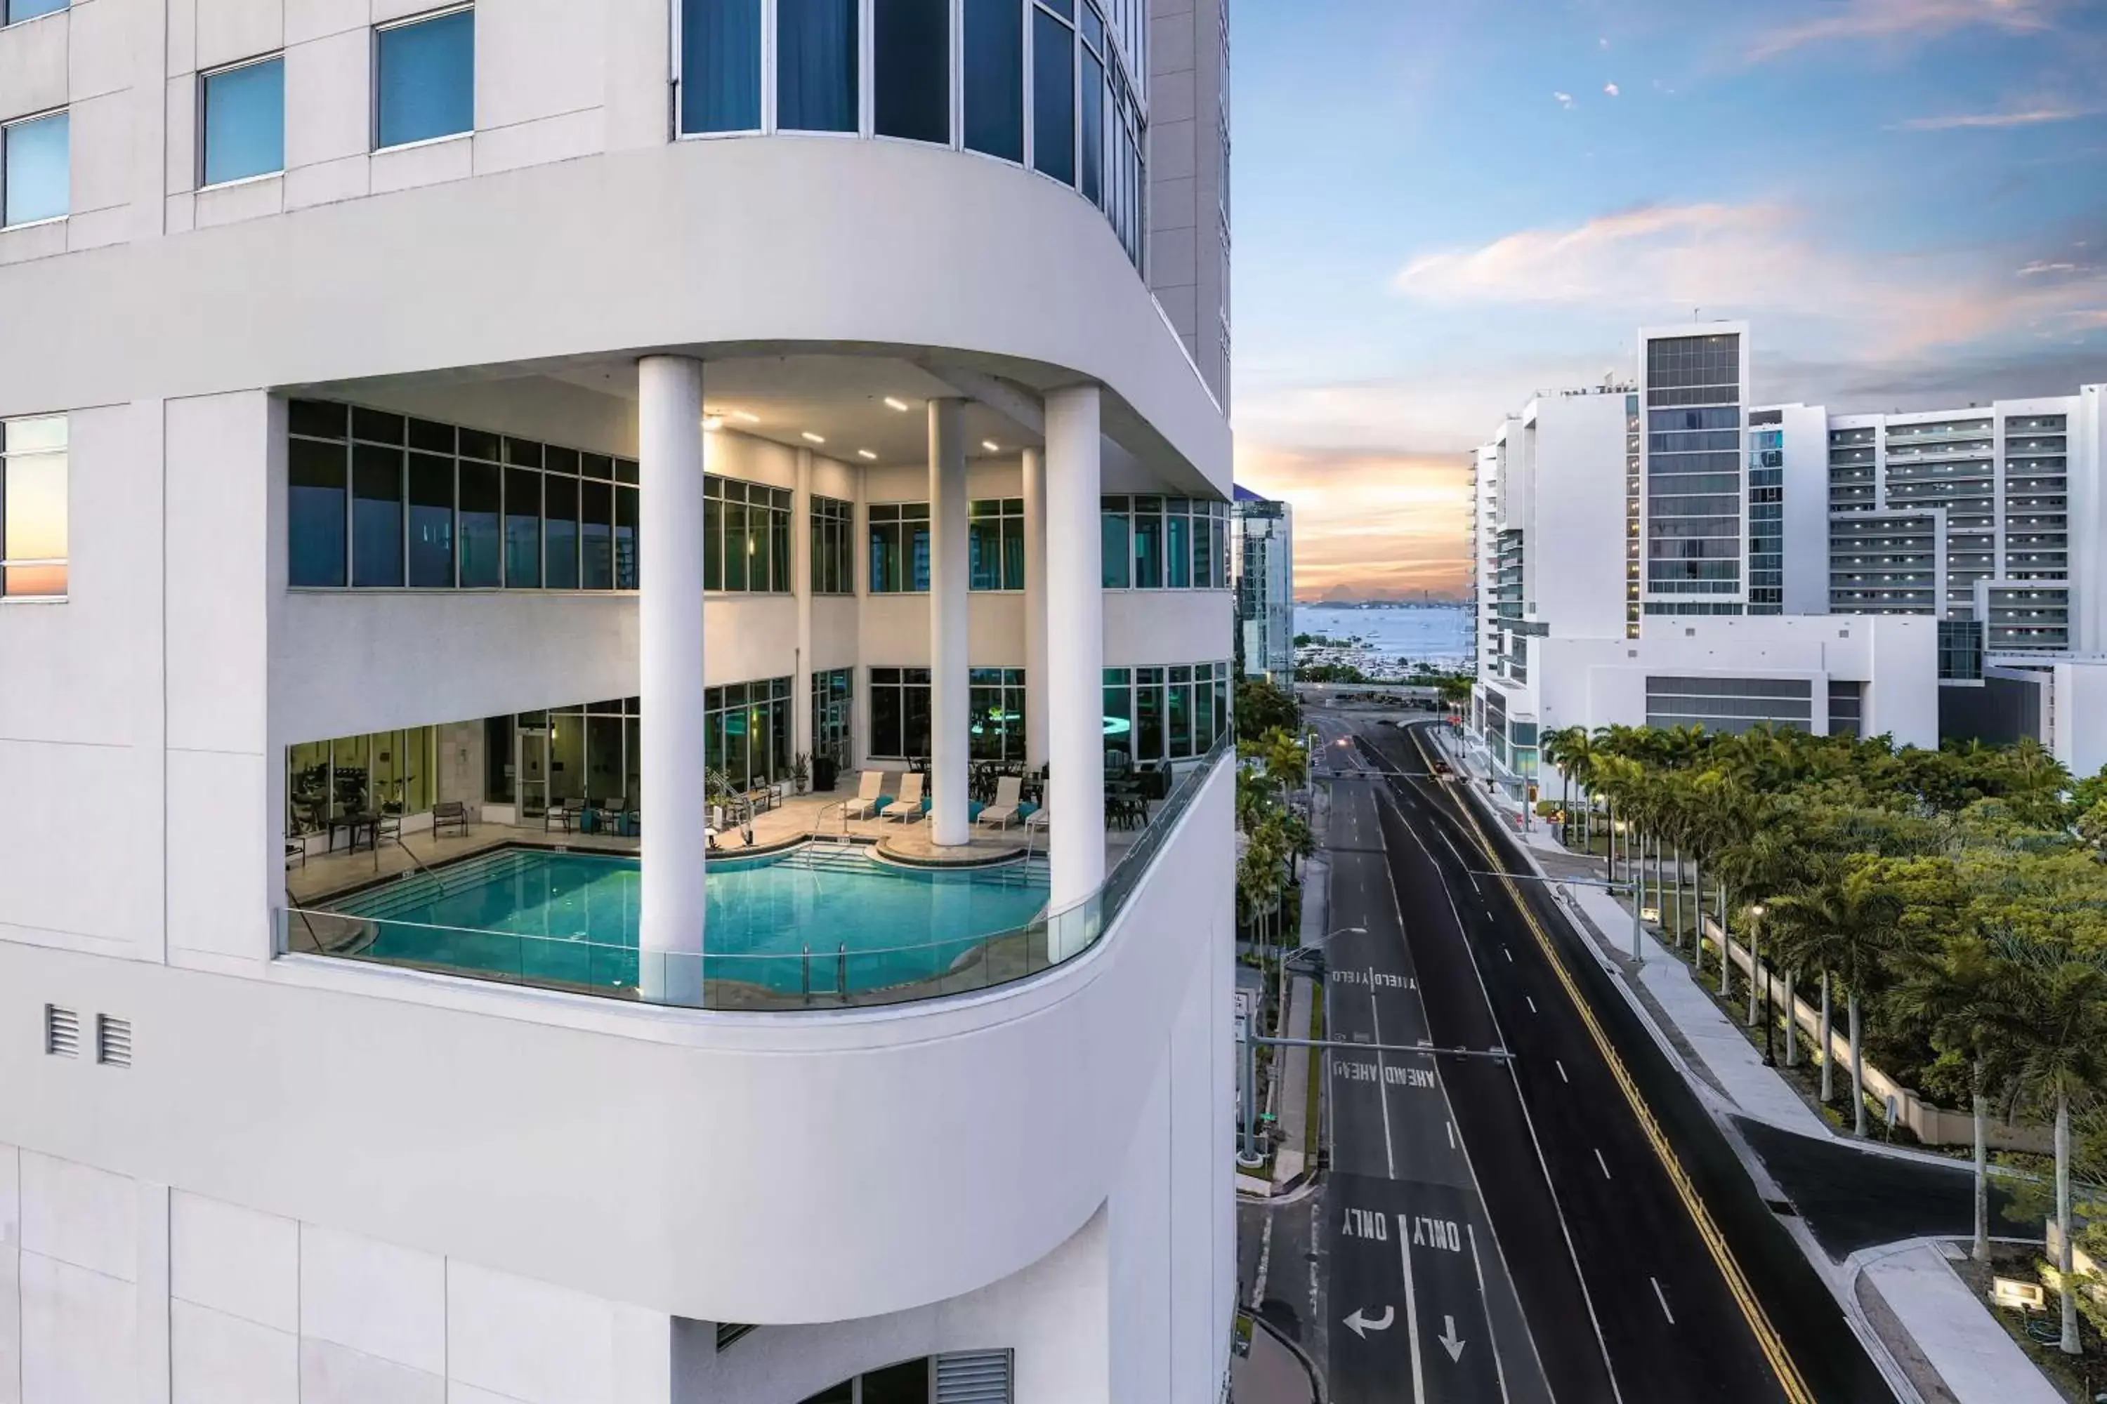
[[[1355,726],[1342,716],[1319,714],[1315,720],[1327,741]],[[1327,754],[1336,749],[1332,745]],[[1593,951],[1557,916],[1551,897],[1540,884],[1517,882],[1509,888],[1498,878],[1481,876],[1494,867],[1485,844],[1500,855],[1502,867],[1528,871],[1513,840],[1469,815],[1462,796],[1426,773],[1426,754],[1405,730],[1370,726],[1351,749],[1395,775],[1380,785],[1334,781],[1332,842],[1365,848],[1365,861],[1389,869],[1405,964],[1380,966],[1365,960],[1351,937],[1334,939],[1332,1008],[1340,1010],[1334,1027],[1353,1027],[1338,998],[1351,983],[1340,977],[1367,964],[1376,972],[1410,970],[1416,983],[1410,994],[1424,1017],[1424,1036],[1435,1044],[1507,1046],[1517,1052],[1507,1065],[1441,1061],[1441,1084],[1460,1149],[1475,1166],[1488,1219],[1469,1219],[1469,1200],[1456,1212],[1473,1229],[1490,1221],[1500,1255],[1513,1267],[1528,1339],[1555,1396],[1633,1402],[1892,1400],[1719,1126],[1662,1057]],[[1342,791],[1355,789],[1380,796],[1374,800],[1380,855],[1374,842],[1348,844],[1338,825]],[[1367,924],[1367,941],[1380,945],[1378,924],[1359,922],[1342,901],[1340,874],[1353,859],[1351,850],[1334,857],[1334,924]],[[1534,924],[1523,916],[1523,903]],[[1376,907],[1374,899],[1365,903],[1365,911]],[[1389,1010],[1376,1004],[1374,1012]],[[1384,1025],[1384,1040],[1391,1040],[1389,1019]],[[1367,1092],[1351,1107],[1351,1088],[1334,1080],[1332,1090],[1342,1092],[1334,1109],[1334,1166],[1340,1189],[1348,1189],[1355,1187],[1348,1175],[1370,1175]],[[1391,1097],[1389,1086],[1382,1097]],[[1378,1114],[1382,1105],[1376,1103]],[[1391,1103],[1393,1154],[1397,1109]],[[1435,1135],[1441,1135],[1435,1149],[1445,1149],[1445,1128],[1437,1126]],[[1422,1122],[1414,1122],[1407,1139],[1422,1137],[1433,1141]],[[1424,1170],[1418,1160],[1399,1168],[1407,1177]],[[1346,1206],[1344,1194],[1338,1206]],[[1393,1217],[1393,1227],[1399,1212],[1407,1219],[1426,1212],[1389,1200],[1382,1210]],[[1361,1282],[1357,1273],[1374,1271],[1363,1263],[1374,1263],[1376,1255],[1367,1244],[1346,1240],[1346,1219],[1336,1212],[1330,1219],[1330,1316],[1338,1318],[1348,1309],[1340,1290]],[[1412,1259],[1414,1269],[1420,1261]],[[1401,1269],[1391,1276],[1399,1278]],[[1445,1292],[1443,1303],[1448,1292],[1456,1292],[1450,1284],[1437,1290]],[[1441,1311],[1443,1318],[1448,1313]],[[1426,1324],[1424,1309],[1418,1320]],[[1485,1320],[1488,1328],[1498,1326],[1496,1316]],[[1363,1368],[1357,1353],[1342,1356],[1342,1337],[1353,1339],[1334,1320],[1330,1358],[1340,1372],[1334,1396],[1348,1404],[1361,1398],[1500,1398],[1439,1393],[1431,1383],[1424,1393],[1414,1393],[1410,1383],[1399,1387],[1410,1377],[1395,1372],[1395,1351]],[[1422,1335],[1422,1370],[1424,1345]],[[1500,1358],[1511,1353],[1504,1349]],[[1370,1377],[1389,1381],[1367,1385],[1389,1393],[1340,1389],[1342,1381],[1361,1389],[1359,1381]]]

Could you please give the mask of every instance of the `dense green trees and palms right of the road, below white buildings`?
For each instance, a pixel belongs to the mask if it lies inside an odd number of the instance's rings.
[[[1924,751],[1770,726],[1572,728],[1542,754],[1566,777],[1547,817],[1574,850],[1606,846],[1700,970],[1719,970],[1700,926],[1724,924],[1801,998],[1827,991],[1850,1055],[1823,1063],[1818,1099],[1848,1130],[1869,1132],[1860,1065],[1970,1107],[1978,1135],[2052,1124],[2054,1158],[2008,1160],[2075,1181],[2040,1217],[2107,1257],[2107,1194],[2088,1189],[2107,1181],[2107,773],[2073,781],[2035,741]],[[2056,1337],[2075,1353],[2078,1313],[2103,1309],[2069,1301]]]

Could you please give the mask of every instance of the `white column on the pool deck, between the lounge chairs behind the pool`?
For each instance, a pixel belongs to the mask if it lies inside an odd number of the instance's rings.
[[[967,726],[965,678],[967,549],[963,402],[929,402],[929,842],[965,844]]]

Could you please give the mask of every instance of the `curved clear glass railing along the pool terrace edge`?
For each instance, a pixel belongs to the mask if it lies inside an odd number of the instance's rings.
[[[284,907],[280,951],[400,966],[499,985],[712,1010],[826,1010],[908,1004],[1028,979],[1091,949],[1174,840],[1193,800],[1224,758],[1222,733],[1186,766],[1134,840],[1083,901],[992,935],[942,935],[870,947],[813,930],[799,951],[641,951],[634,945],[537,937]],[[442,874],[442,869],[440,869]],[[826,880],[826,874],[815,874]],[[375,954],[375,951],[386,954]]]

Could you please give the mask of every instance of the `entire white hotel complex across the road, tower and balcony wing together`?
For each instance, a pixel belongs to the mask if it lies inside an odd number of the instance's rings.
[[[1742,322],[1639,333],[1475,453],[1473,730],[1652,724],[2037,737],[2107,764],[2101,387],[1968,410],[1757,406]]]

